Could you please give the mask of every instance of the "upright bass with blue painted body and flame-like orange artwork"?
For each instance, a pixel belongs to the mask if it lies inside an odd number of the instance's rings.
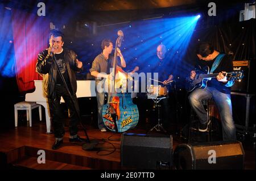
[[[110,92],[108,92],[108,102],[103,106],[102,118],[105,126],[113,132],[125,132],[134,128],[138,124],[139,112],[137,105],[131,100],[131,92],[117,92],[115,77],[117,74],[117,48],[121,47],[123,32],[118,31],[115,41],[115,51]]]

